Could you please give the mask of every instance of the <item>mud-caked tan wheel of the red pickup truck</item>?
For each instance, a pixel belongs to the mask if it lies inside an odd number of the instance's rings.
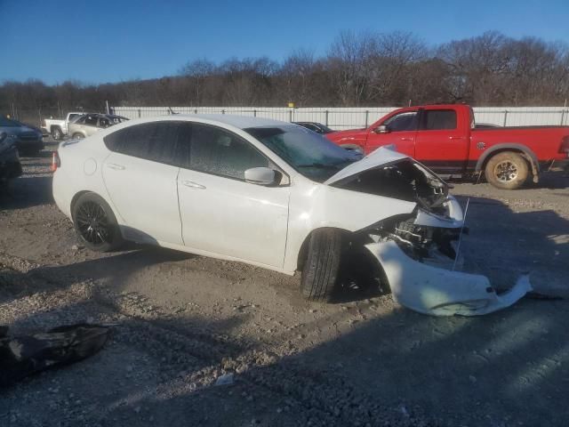
[[[512,151],[496,154],[486,164],[486,181],[498,189],[519,189],[527,180],[525,158]]]

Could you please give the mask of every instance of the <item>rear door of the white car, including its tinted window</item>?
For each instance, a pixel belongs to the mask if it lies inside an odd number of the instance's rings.
[[[179,123],[134,125],[104,138],[112,153],[103,178],[126,238],[183,245],[176,179],[187,149],[177,143]]]

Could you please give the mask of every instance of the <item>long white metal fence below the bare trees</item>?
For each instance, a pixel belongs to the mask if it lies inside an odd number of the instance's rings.
[[[112,107],[115,114],[128,118],[171,114],[168,107]],[[180,114],[236,114],[274,118],[285,122],[318,122],[332,129],[353,129],[372,125],[395,107],[381,108],[268,108],[268,107],[172,107]],[[569,109],[561,107],[477,107],[477,123],[502,126],[569,125]]]

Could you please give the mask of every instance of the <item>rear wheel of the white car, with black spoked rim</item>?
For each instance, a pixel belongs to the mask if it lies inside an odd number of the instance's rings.
[[[73,205],[71,216],[77,237],[92,251],[114,251],[123,244],[113,210],[95,193],[81,195]]]

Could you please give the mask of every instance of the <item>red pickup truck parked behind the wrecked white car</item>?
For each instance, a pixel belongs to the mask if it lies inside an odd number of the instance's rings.
[[[444,175],[475,176],[500,189],[517,189],[553,162],[569,158],[569,126],[477,129],[468,105],[427,105],[397,109],[369,126],[327,133],[345,149],[365,154],[384,145],[414,157]]]

